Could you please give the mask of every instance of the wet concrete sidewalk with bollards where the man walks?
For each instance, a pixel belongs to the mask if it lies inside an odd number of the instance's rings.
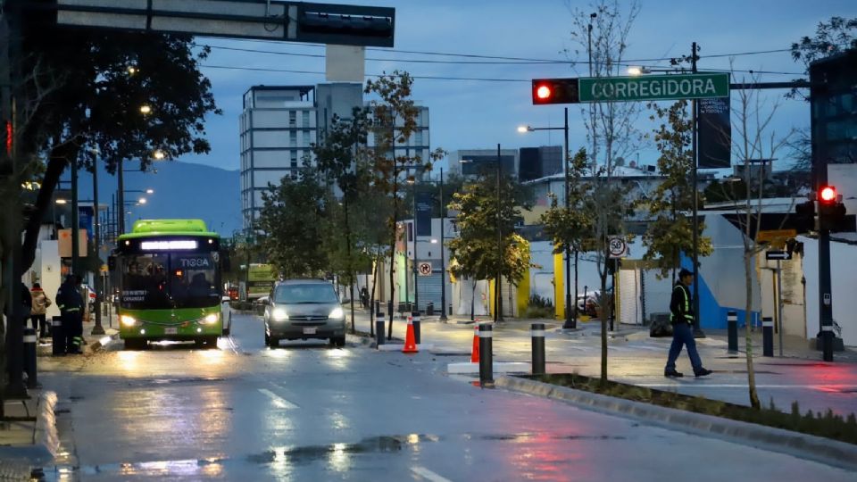
[[[369,333],[369,313],[356,316],[356,328]],[[469,361],[475,326],[459,324],[469,321],[454,317],[440,323],[437,317],[423,317],[420,322],[421,343],[432,345],[429,353],[438,363]],[[530,362],[530,324],[545,323],[547,371],[579,373],[588,377],[601,374],[601,324],[598,320],[578,323],[578,329],[563,332],[558,320],[506,320],[494,326],[495,362]],[[350,327],[350,319],[348,320]],[[386,326],[386,325],[385,325]],[[404,338],[407,321],[396,316],[393,337]],[[745,332],[738,337],[738,353],[728,353],[725,330],[706,330],[706,337],[696,340],[706,368],[714,373],[695,378],[686,351],[678,358],[678,370],[684,378],[664,378],[663,370],[671,337],[649,337],[648,328],[617,325],[608,333],[607,374],[613,381],[712,400],[749,405]],[[805,413],[832,410],[847,415],[857,412],[857,350],[846,347],[834,354],[834,362],[822,362],[821,353],[810,348],[801,337],[784,337],[783,356],[778,356],[778,336],[774,337],[773,357],[761,356],[761,330],[751,333],[753,371],[758,396],[766,406],[773,402],[781,411],[790,411],[797,402]],[[395,343],[395,342],[394,342]],[[399,341],[398,343],[402,343]],[[442,359],[439,357],[443,357]]]

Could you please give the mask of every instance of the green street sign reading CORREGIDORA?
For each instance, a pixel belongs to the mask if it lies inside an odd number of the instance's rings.
[[[729,74],[582,77],[578,92],[582,103],[728,97]]]

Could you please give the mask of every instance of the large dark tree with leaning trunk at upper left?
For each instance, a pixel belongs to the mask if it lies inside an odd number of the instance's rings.
[[[112,171],[123,159],[140,159],[145,168],[154,150],[166,159],[207,153],[204,116],[220,113],[199,71],[208,49],[194,54],[190,36],[62,29],[28,20],[21,71],[34,75],[21,91],[32,99],[50,88],[32,112],[39,122],[25,126],[19,139],[22,155],[46,159],[24,227],[24,269],[33,262],[40,220],[70,162],[87,168],[101,160]],[[152,111],[143,115],[142,105]]]

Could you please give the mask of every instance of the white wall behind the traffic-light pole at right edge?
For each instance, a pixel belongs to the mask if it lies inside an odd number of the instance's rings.
[[[809,237],[803,242],[803,272],[806,277],[806,337],[819,333],[819,243]],[[857,346],[857,246],[830,242],[830,279],[832,286],[833,320],[842,327],[845,345]]]

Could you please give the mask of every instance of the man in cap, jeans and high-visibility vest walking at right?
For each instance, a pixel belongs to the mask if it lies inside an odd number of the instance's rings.
[[[676,360],[681,353],[681,347],[687,346],[687,355],[690,356],[690,364],[694,367],[694,375],[704,377],[711,374],[711,370],[703,367],[703,361],[696,351],[694,340],[694,303],[690,297],[690,285],[694,283],[694,273],[688,270],[678,271],[678,281],[672,288],[670,299],[670,322],[672,323],[672,345],[670,345],[670,356],[667,358],[667,367],[663,370],[665,377],[684,377],[684,374],[676,370]]]

